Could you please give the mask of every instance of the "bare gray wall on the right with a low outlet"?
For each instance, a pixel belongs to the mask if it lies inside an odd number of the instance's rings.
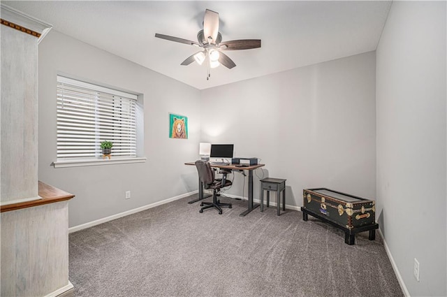
[[[376,59],[381,231],[409,294],[446,296],[446,2],[395,1]]]

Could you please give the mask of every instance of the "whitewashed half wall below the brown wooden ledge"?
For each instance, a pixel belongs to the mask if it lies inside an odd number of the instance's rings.
[[[1,213],[1,296],[70,289],[68,202]]]

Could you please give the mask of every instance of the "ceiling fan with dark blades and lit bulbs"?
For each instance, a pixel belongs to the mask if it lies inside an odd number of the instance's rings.
[[[216,68],[220,64],[231,69],[236,66],[235,62],[225,55],[222,50],[249,50],[251,48],[261,48],[261,39],[241,39],[237,41],[222,41],[222,35],[219,32],[219,13],[212,10],[205,10],[203,17],[203,30],[198,31],[197,40],[189,41],[187,39],[168,36],[163,34],[155,34],[155,37],[175,41],[178,43],[186,43],[189,45],[202,48],[199,52],[187,57],[181,65],[189,65],[193,61],[202,65],[207,62],[207,80],[210,79],[210,68]]]

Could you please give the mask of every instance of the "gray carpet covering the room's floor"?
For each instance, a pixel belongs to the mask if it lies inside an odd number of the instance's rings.
[[[211,198],[207,198],[210,200]],[[404,296],[380,236],[246,201],[199,213],[183,198],[71,233],[75,296]]]

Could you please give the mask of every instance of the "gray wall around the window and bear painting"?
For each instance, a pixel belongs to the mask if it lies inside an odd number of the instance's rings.
[[[78,226],[197,189],[185,161],[198,157],[200,92],[57,31],[39,45],[39,180],[75,194],[69,226]],[[144,94],[143,164],[53,168],[56,160],[56,75]],[[186,115],[189,139],[171,139],[169,113]],[[125,191],[131,198],[124,199]]]

